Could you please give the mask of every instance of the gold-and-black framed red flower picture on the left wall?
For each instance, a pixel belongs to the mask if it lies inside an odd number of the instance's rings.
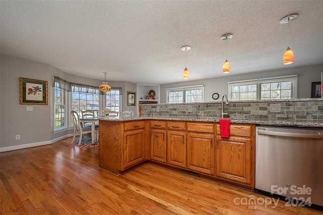
[[[48,82],[20,78],[20,104],[48,104]]]

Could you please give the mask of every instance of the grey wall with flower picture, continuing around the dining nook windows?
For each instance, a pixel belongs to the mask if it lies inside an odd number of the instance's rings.
[[[0,64],[0,151],[49,144],[73,133],[72,130],[53,132],[53,76],[93,86],[102,83],[100,80],[67,74],[47,64],[7,55],[0,56]],[[20,104],[19,77],[48,81],[48,105]],[[129,85],[128,90],[136,91],[136,84],[122,81],[109,81],[109,84],[122,87],[122,108],[128,108],[125,98],[127,87]],[[26,106],[33,106],[33,111],[27,112]],[[17,134],[20,134],[20,140],[16,140]]]

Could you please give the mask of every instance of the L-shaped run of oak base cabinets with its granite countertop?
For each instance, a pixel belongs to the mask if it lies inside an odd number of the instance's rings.
[[[149,161],[194,175],[254,188],[255,125],[322,127],[310,122],[231,119],[221,137],[219,118],[108,118],[99,121],[99,166],[122,174]]]

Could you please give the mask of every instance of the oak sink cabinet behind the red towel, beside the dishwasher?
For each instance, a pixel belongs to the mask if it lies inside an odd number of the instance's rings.
[[[234,183],[254,187],[254,125],[231,124],[230,137],[217,129],[216,176]]]

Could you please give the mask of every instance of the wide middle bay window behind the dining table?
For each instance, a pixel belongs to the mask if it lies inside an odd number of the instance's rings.
[[[99,110],[99,89],[72,84],[72,111]]]

